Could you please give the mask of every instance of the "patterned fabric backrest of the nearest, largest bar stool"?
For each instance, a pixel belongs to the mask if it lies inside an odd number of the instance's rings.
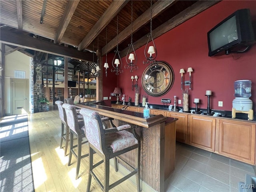
[[[103,124],[98,112],[90,109],[81,109],[80,114],[84,117],[86,138],[90,144],[103,153],[105,146]]]

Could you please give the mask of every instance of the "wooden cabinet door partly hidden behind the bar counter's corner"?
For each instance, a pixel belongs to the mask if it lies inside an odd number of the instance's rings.
[[[176,121],[176,141],[186,143],[188,140],[188,115],[168,112],[167,116],[179,119]]]

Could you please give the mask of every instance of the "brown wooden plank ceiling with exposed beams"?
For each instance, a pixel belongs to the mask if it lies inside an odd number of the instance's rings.
[[[152,0],[153,36],[164,34],[216,3],[215,0]],[[150,0],[5,0],[0,1],[3,34],[0,40],[14,48],[22,47],[20,51],[23,52],[24,49],[34,50],[56,58],[65,55],[72,58],[66,50],[59,51],[66,44],[74,51],[75,59],[73,62],[70,59],[70,63],[78,70],[88,71],[95,67],[92,52],[97,46],[102,56],[114,52],[117,37],[120,55],[126,55],[131,41],[131,19],[134,48],[137,49],[148,40]],[[45,44],[35,39],[43,40]],[[56,47],[51,50],[54,44]],[[95,63],[96,56],[94,60]]]

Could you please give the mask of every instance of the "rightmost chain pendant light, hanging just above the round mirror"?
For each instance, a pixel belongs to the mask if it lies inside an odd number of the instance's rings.
[[[152,41],[152,45],[149,45],[149,42]],[[147,51],[148,50],[148,51]],[[147,56],[149,54],[149,56]],[[153,56],[152,54],[155,54]],[[143,61],[143,64],[150,64],[150,66],[157,66],[158,62],[155,60],[157,56],[156,45],[152,36],[152,0],[150,1],[150,34],[148,35],[148,42],[144,49],[144,55],[146,59]]]

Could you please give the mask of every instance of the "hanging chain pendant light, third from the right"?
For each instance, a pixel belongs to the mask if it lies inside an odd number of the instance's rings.
[[[122,60],[121,60],[121,57],[120,57],[120,51],[118,51],[118,16],[117,16],[117,19],[116,19],[116,40],[117,40],[117,45],[116,45],[116,50],[115,50],[115,56],[112,60],[112,66],[113,68],[111,69],[111,72],[116,72],[116,75],[118,75],[119,73],[122,73],[123,70],[121,69],[122,68]]]

